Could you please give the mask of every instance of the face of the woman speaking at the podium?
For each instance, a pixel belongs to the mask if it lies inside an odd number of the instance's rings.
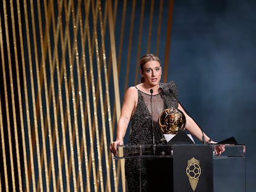
[[[145,83],[150,86],[158,85],[161,80],[162,69],[158,61],[148,61],[143,65],[143,71],[140,70],[141,75],[145,79]]]

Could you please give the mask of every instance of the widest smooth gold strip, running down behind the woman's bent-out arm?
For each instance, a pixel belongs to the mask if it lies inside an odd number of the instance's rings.
[[[108,0],[108,21],[109,21],[109,38],[110,38],[110,51],[111,51],[111,59],[113,62],[113,80],[114,80],[114,98],[116,104],[116,116],[119,117],[121,114],[121,106],[120,106],[120,94],[119,94],[119,80],[118,80],[118,70],[117,70],[117,61],[116,61],[116,41],[114,38],[114,23],[113,23],[113,10],[111,0]],[[111,139],[113,139],[113,135],[111,135]],[[111,140],[113,141],[113,140]],[[114,185],[117,190],[117,178],[115,175],[116,170],[114,170],[113,162],[113,172],[114,172]],[[122,166],[124,167],[124,166]],[[124,178],[124,169],[122,169],[122,178]],[[122,188],[125,190],[126,183],[124,179],[122,180]]]

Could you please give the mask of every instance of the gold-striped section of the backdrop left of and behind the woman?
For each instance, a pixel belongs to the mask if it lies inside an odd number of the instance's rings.
[[[142,54],[160,54],[168,69],[173,1],[0,8],[2,191],[125,190],[108,149],[120,96],[139,80]]]

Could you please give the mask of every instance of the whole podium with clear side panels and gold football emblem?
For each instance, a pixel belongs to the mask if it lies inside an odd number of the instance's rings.
[[[125,145],[114,158],[147,162],[147,190],[140,186],[140,191],[244,192],[245,145],[224,146],[224,153],[216,156],[218,144]],[[234,181],[238,188],[233,188]]]

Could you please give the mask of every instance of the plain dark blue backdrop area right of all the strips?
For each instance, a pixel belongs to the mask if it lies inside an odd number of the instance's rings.
[[[255,1],[174,1],[168,75],[213,140],[246,144],[247,191],[256,180],[255,8]]]

